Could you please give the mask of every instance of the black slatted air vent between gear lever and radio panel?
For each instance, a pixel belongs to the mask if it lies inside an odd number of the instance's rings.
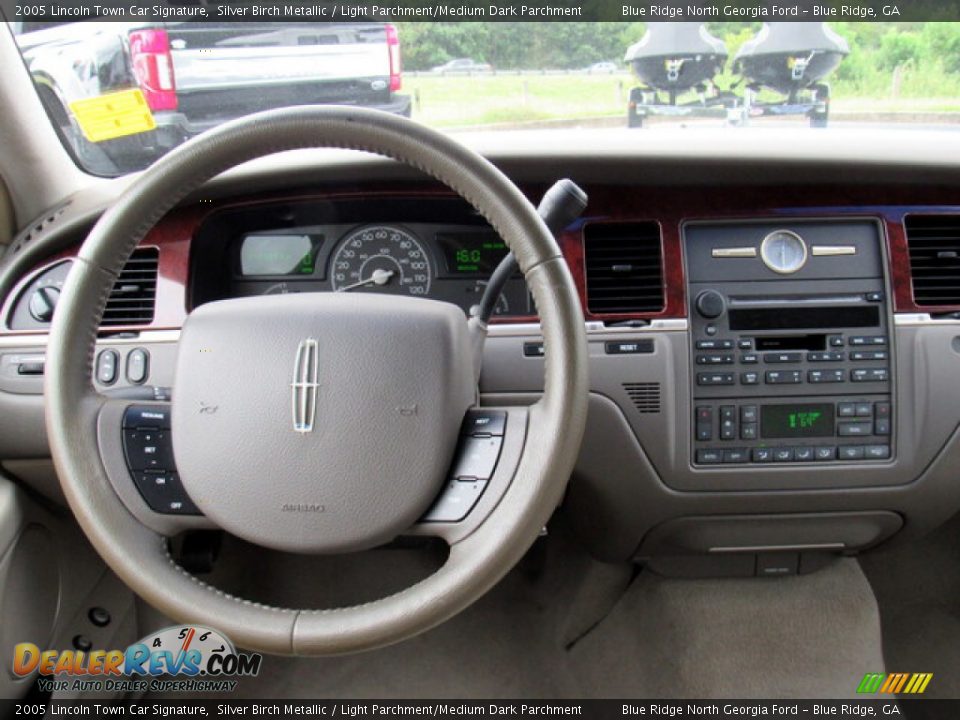
[[[656,223],[598,223],[584,229],[587,309],[598,314],[663,310],[663,258]]]

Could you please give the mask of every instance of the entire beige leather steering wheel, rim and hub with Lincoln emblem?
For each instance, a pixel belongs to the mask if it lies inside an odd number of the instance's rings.
[[[231,299],[190,313],[177,348],[170,432],[180,479],[208,522],[295,552],[360,550],[408,532],[449,545],[445,563],[417,584],[329,610],[253,603],[177,565],[167,536],[195,527],[197,518],[150,513],[130,491],[130,475],[118,477],[120,418],[131,401],[107,397],[92,382],[107,297],[156,222],[229,168],[315,147],[393,158],[468,201],[516,256],[546,348],[540,400],[525,411],[501,411],[500,460],[481,502],[462,521],[431,523],[422,521],[424,513],[456,482],[451,462],[471,462],[456,454],[464,442],[461,422],[478,398],[475,348],[459,308],[311,293]],[[184,143],[103,214],[77,256],[51,327],[46,425],[80,526],[144,600],[252,650],[337,654],[438,625],[518,562],[560,502],[573,468],[586,417],[586,367],[584,320],[569,269],[505,175],[452,139],[397,116],[297,107],[232,121]]]

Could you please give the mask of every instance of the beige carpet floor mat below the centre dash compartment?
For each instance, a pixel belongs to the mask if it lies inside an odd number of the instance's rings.
[[[608,697],[843,698],[883,668],[873,592],[850,559],[797,577],[643,575],[572,655]]]

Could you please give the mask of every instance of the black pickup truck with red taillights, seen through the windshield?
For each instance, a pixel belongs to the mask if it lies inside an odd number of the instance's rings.
[[[15,23],[13,31],[67,148],[96,174],[140,169],[219,123],[285,105],[410,115],[389,24]],[[71,105],[136,88],[156,128],[91,142]]]

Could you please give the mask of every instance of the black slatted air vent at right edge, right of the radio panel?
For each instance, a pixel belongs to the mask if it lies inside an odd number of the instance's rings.
[[[904,225],[917,305],[960,305],[960,215],[909,215]]]

